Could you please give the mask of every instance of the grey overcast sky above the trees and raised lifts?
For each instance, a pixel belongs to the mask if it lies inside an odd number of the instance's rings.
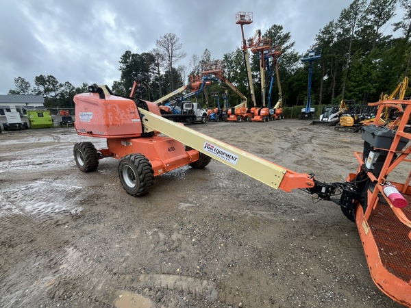
[[[283,25],[304,53],[319,29],[337,19],[351,0],[0,0],[0,94],[14,78],[34,86],[34,77],[53,75],[73,86],[120,79],[119,60],[127,50],[143,53],[166,33],[176,34],[187,57],[207,48],[221,59],[240,47],[236,12],[253,12],[245,36]],[[386,32],[384,32],[386,34]]]

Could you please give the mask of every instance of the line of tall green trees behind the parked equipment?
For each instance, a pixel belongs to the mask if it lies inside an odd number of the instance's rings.
[[[399,3],[400,21],[392,23]],[[384,34],[393,25],[399,37]],[[321,49],[321,58],[313,62],[312,97],[315,104],[337,103],[355,99],[367,103],[378,101],[382,92],[392,92],[397,84],[410,75],[411,64],[411,2],[409,0],[353,0],[316,34],[308,50]],[[305,105],[307,101],[308,63],[295,51],[290,32],[282,25],[272,25],[262,36],[281,47],[277,57],[282,84],[283,103],[287,106]],[[191,55],[188,67],[177,66],[187,56],[179,38],[172,33],[156,40],[156,47],[145,53],[125,51],[119,60],[120,79],[114,81],[114,93],[128,96],[137,77],[145,80],[138,95],[155,101],[184,84],[189,75],[201,74],[201,65],[213,60],[208,49],[202,55]],[[224,75],[243,94],[249,94],[247,72],[241,49],[223,55]],[[261,101],[259,60],[251,55],[251,70],[257,102]],[[267,78],[266,78],[267,80]],[[268,79],[268,82],[270,80]],[[88,84],[76,88],[69,82],[60,83],[52,75],[35,77],[34,88],[23,77],[14,79],[16,88],[9,94],[38,94],[45,97],[47,107],[74,107],[73,96],[87,92]],[[276,83],[274,83],[276,84]],[[213,82],[209,92],[222,93],[227,89]],[[410,93],[408,89],[408,93]],[[236,104],[236,94],[229,90],[230,103]],[[278,95],[273,87],[273,97]],[[203,101],[203,97],[198,98]]]

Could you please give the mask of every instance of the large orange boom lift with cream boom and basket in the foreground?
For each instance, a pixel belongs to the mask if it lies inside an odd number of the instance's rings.
[[[272,188],[301,189],[314,198],[334,201],[356,222],[377,287],[411,307],[411,172],[403,183],[388,182],[390,172],[411,162],[407,159],[411,133],[406,132],[411,101],[374,103],[377,117],[364,129],[364,151],[356,153],[357,172],[345,182],[324,183],[313,174],[294,172],[166,120],[155,103],[117,97],[106,86],[92,85],[89,90],[74,97],[75,129],[81,136],[105,138],[107,148],[95,149],[91,142],[75,144],[80,170],[96,170],[105,157],[119,159],[123,188],[142,196],[156,176],[185,165],[204,168],[213,158]],[[389,127],[378,124],[384,107],[399,114]]]

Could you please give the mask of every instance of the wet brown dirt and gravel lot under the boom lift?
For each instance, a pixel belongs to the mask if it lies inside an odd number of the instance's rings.
[[[360,134],[304,120],[193,129],[321,181],[357,168]],[[73,128],[0,134],[0,307],[399,307],[371,280],[334,203],[219,162],[121,187],[116,159],[80,172]]]

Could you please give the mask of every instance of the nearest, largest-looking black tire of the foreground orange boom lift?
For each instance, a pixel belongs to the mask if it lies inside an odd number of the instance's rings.
[[[119,163],[119,177],[124,190],[132,196],[142,196],[154,185],[154,172],[149,159],[142,154],[130,154]]]

